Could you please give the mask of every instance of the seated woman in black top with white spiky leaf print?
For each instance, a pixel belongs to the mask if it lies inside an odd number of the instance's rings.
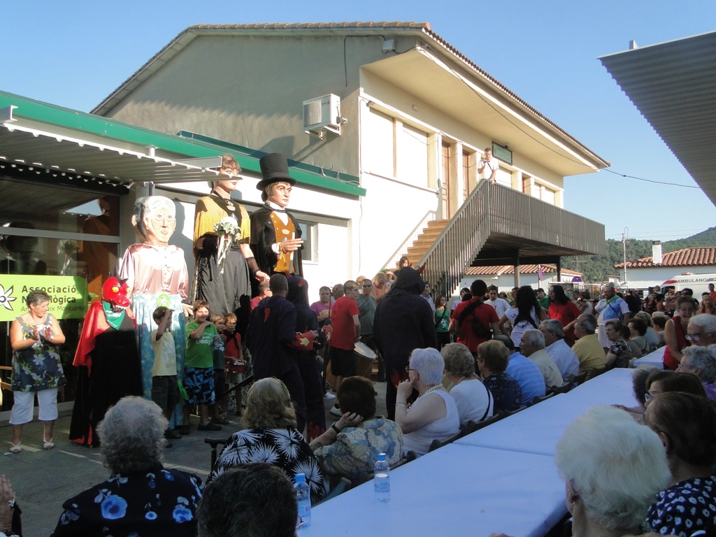
[[[273,377],[254,382],[241,416],[246,429],[234,432],[216,459],[208,480],[241,463],[269,463],[294,481],[306,474],[311,501],[326,495],[326,483],[318,459],[296,429],[296,411],[286,384]]]

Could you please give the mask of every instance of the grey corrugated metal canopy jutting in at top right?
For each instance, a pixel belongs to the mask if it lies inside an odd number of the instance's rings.
[[[599,60],[716,205],[716,32]]]

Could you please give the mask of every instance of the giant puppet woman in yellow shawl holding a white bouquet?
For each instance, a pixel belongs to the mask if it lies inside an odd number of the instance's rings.
[[[251,223],[243,205],[231,199],[241,172],[231,155],[221,155],[220,180],[211,181],[211,195],[196,202],[194,257],[196,298],[208,301],[212,314],[234,313],[251,299],[251,277],[269,281],[251,253]],[[246,308],[248,309],[248,308]]]

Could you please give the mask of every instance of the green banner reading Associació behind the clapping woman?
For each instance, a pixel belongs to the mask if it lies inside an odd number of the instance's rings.
[[[25,297],[34,289],[49,294],[49,313],[57,319],[82,319],[87,312],[87,280],[81,276],[0,274],[0,321],[27,311]]]

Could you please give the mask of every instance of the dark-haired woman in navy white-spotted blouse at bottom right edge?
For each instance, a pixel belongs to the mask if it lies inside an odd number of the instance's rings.
[[[647,523],[662,534],[716,535],[713,403],[690,393],[664,393],[654,397],[644,420],[662,440],[671,470],[668,485],[649,508]]]

